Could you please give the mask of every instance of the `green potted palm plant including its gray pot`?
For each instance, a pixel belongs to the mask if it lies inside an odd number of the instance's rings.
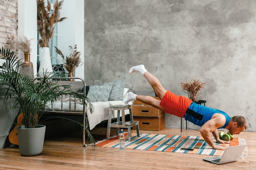
[[[51,73],[44,73],[43,77],[35,82],[31,77],[20,73],[20,60],[17,60],[13,52],[5,51],[3,48],[0,52],[4,60],[6,60],[3,66],[0,66],[0,91],[4,91],[5,98],[14,101],[14,105],[11,108],[19,109],[24,117],[22,126],[17,128],[21,155],[32,156],[42,152],[45,126],[38,124],[40,117],[43,115],[41,110],[45,110],[46,107],[52,102],[56,102],[62,95],[75,96],[85,102],[90,113],[93,112],[90,100],[74,91],[70,85],[58,85],[53,80],[55,77],[49,78],[49,75],[52,75]],[[88,132],[88,138],[94,146],[95,141],[88,128],[83,128]],[[27,130],[31,130],[32,135],[25,136],[22,131]],[[42,132],[36,132],[36,130],[41,130]],[[43,136],[36,136],[39,134]],[[33,137],[33,139],[30,141],[29,137]],[[22,141],[22,139],[25,139],[25,141]],[[36,141],[36,139],[40,139],[40,141]],[[40,144],[40,146],[35,146],[36,144]]]

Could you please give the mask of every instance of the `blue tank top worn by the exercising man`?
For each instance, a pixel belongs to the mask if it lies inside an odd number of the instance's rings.
[[[229,115],[227,115],[227,113],[225,113],[221,110],[217,110],[215,108],[209,108],[207,106],[196,104],[195,102],[193,102],[189,106],[189,108],[186,110],[186,114],[185,114],[184,118],[185,118],[185,120],[190,121],[195,125],[202,126],[208,120],[210,120],[211,117],[213,116],[213,114],[215,114],[215,113],[220,113],[225,116],[225,118],[226,118],[225,124],[218,129],[225,128],[229,124],[229,121],[230,121],[230,117],[229,117]]]

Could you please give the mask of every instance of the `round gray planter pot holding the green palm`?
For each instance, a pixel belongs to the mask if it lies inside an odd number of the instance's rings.
[[[21,155],[34,156],[43,151],[45,125],[38,125],[37,128],[31,129],[25,129],[24,126],[19,126],[17,133]]]

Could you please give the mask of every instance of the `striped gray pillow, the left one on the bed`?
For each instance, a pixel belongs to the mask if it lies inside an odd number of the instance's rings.
[[[113,83],[90,86],[86,97],[91,102],[106,102],[108,101],[112,87]]]

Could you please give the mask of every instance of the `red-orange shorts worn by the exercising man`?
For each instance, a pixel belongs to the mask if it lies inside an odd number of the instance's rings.
[[[193,103],[191,99],[167,91],[160,102],[160,106],[164,108],[165,113],[184,117],[191,103]]]

